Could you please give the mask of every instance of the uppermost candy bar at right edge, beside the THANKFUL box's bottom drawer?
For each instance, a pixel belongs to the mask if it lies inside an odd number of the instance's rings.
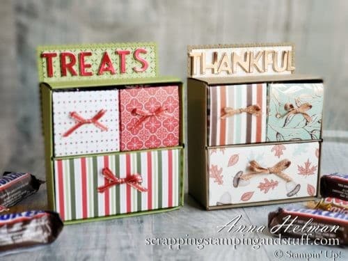
[[[320,193],[324,198],[348,200],[348,175],[340,173],[324,175],[320,179]]]

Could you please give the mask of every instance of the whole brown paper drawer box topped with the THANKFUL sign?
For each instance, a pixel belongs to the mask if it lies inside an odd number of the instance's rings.
[[[189,47],[189,193],[206,209],[317,196],[323,81],[293,74],[292,50]]]

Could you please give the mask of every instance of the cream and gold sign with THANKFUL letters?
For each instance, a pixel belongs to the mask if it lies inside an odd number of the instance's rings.
[[[241,77],[291,74],[292,45],[189,47],[190,77]]]

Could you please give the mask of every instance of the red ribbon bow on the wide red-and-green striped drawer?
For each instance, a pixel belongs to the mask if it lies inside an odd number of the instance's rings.
[[[141,186],[141,182],[143,182],[143,178],[141,177],[140,174],[133,174],[124,178],[118,178],[116,177],[116,175],[112,173],[110,168],[103,168],[102,175],[106,178],[108,182],[104,184],[103,186],[98,187],[99,193],[103,193],[107,189],[120,184],[127,184],[141,192],[148,191],[148,189],[145,189],[144,187]]]

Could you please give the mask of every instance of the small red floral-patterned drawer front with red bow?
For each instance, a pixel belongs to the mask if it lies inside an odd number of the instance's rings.
[[[179,145],[178,86],[120,90],[120,149]]]

